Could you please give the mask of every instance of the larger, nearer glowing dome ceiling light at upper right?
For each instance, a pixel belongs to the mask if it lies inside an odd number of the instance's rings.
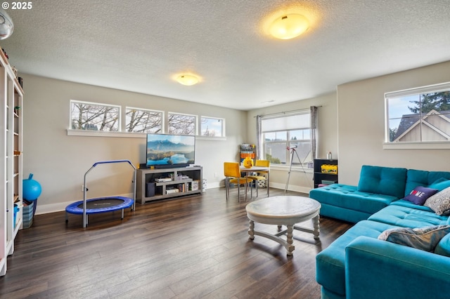
[[[276,18],[270,25],[269,32],[277,39],[293,39],[309,28],[309,21],[303,15],[290,13]]]

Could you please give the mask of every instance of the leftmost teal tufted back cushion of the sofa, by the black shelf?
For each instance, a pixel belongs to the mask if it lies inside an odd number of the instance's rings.
[[[385,194],[401,199],[405,196],[406,168],[361,167],[358,191]]]

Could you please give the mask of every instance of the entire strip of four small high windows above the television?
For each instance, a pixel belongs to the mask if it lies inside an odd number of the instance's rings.
[[[141,138],[145,133],[168,133],[225,139],[225,119],[217,117],[79,100],[70,100],[69,117],[68,135]]]

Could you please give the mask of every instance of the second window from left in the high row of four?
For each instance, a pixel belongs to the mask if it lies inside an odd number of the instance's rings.
[[[162,112],[127,107],[125,114],[127,132],[162,133]]]

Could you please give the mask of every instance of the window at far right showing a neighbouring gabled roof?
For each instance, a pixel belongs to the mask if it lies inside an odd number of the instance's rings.
[[[385,94],[386,142],[450,141],[450,83]]]

